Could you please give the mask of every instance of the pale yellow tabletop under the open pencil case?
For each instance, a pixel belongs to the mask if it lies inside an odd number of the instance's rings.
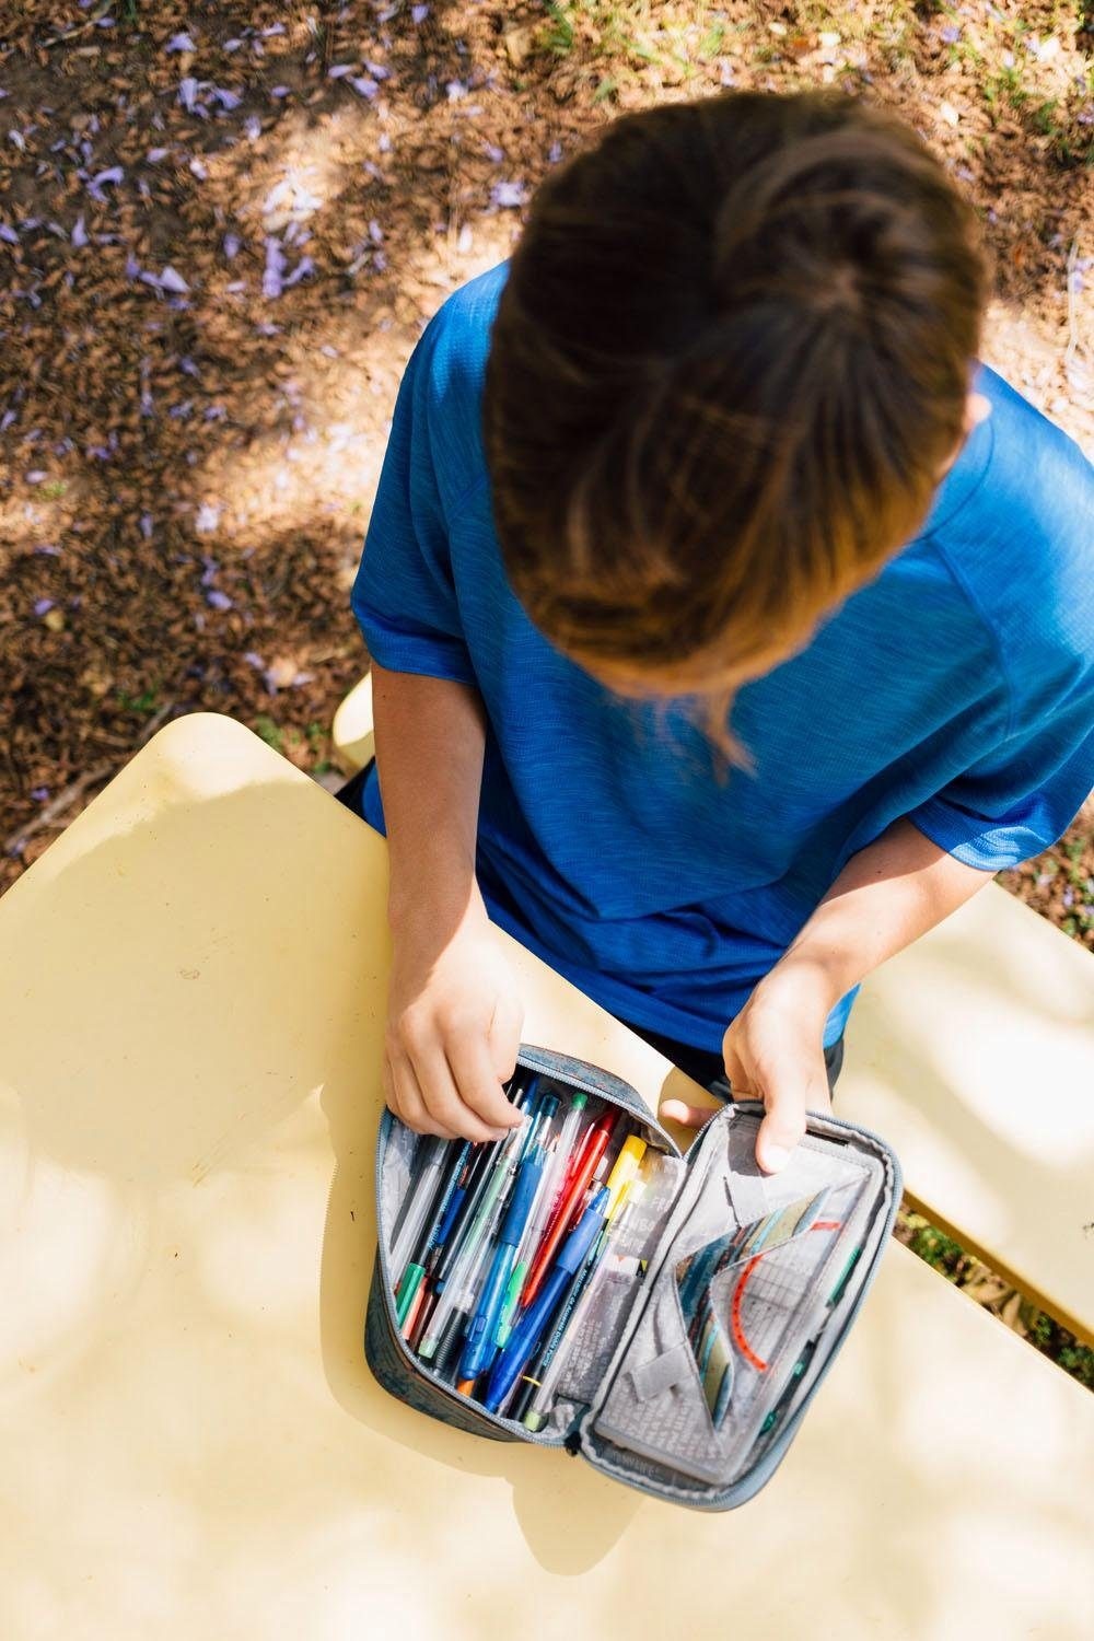
[[[897,1244],[730,1515],[379,1390],[385,870],[318,786],[195,715],[0,903],[7,1641],[1086,1641],[1094,1398]],[[512,953],[526,1039],[656,1099],[666,1062]]]

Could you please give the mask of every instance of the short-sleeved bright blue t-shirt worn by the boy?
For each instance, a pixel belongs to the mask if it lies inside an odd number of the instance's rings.
[[[485,702],[477,870],[492,917],[615,1014],[717,1050],[845,862],[892,820],[997,871],[1081,807],[1094,469],[981,364],[992,414],[923,532],[738,693],[753,770],[720,778],[694,714],[613,696],[505,579],[481,438],[505,274],[458,290],[410,359],[353,607],[382,666],[474,684]],[[376,771],[364,814],[382,829]]]

